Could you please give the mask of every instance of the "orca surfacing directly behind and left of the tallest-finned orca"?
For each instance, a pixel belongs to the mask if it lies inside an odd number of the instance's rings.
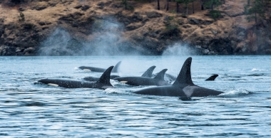
[[[113,80],[118,80],[121,83],[126,83],[128,85],[169,85],[167,81],[164,80],[165,72],[168,69],[163,69],[155,76],[155,78],[147,78],[147,77],[119,77],[114,78]]]

